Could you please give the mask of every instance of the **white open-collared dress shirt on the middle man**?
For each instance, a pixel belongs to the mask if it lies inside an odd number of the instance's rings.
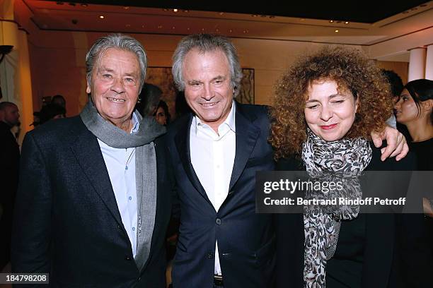
[[[218,134],[197,116],[190,128],[191,162],[207,197],[218,211],[229,194],[231,172],[236,152],[235,104]],[[218,242],[215,243],[215,274],[221,275]]]

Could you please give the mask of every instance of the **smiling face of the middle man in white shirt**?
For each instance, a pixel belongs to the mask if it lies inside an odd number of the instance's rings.
[[[202,53],[192,49],[182,66],[187,104],[204,124],[218,131],[233,101],[229,60],[221,50]]]

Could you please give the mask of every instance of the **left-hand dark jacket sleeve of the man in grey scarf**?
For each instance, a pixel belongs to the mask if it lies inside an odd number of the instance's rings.
[[[47,159],[32,133],[23,141],[13,219],[13,272],[50,272],[52,190]]]

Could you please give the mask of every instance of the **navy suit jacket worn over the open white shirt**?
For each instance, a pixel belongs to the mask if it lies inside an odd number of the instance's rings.
[[[255,172],[274,169],[267,109],[236,103],[236,156],[229,195],[215,211],[190,159],[192,115],[168,131],[180,202],[173,287],[212,287],[215,241],[224,287],[269,287],[275,263],[272,215],[255,214]]]

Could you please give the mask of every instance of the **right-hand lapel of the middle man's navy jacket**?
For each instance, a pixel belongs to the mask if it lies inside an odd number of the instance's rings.
[[[260,128],[253,124],[254,115],[248,115],[242,104],[236,103],[235,125],[236,125],[236,152],[231,172],[229,191],[233,188],[239,176],[241,176],[246,162],[253,152],[255,143],[260,135]]]

